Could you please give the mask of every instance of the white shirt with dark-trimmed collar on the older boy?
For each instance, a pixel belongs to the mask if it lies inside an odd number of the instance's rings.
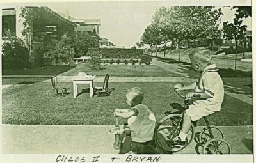
[[[218,68],[215,64],[206,66],[200,79],[196,82],[196,92],[204,91],[212,98],[206,100],[198,100],[198,102],[204,102],[210,111],[220,111],[221,104],[224,98],[223,81],[218,74]]]

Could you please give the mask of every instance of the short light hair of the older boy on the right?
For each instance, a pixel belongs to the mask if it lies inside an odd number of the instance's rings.
[[[212,61],[211,51],[209,49],[204,49],[204,48],[198,48],[196,50],[193,50],[189,54],[189,58],[194,59],[199,63],[204,63],[206,65],[211,65],[211,61]]]

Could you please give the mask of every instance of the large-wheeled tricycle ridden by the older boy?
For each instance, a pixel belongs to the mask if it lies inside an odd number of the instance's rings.
[[[184,99],[184,111],[189,107],[189,99],[181,95],[176,89],[174,91]],[[194,95],[197,97],[197,95]],[[177,151],[183,150],[188,146],[189,143],[195,137],[195,127],[191,124],[191,128],[186,139],[186,146],[180,147],[179,144],[173,142],[173,138],[179,135],[182,127],[182,116],[184,111],[180,114],[168,113],[164,118],[162,118],[156,125],[154,130],[154,142],[157,148],[163,151],[163,153],[175,153]],[[211,127],[207,117],[204,116],[205,123],[207,127],[203,128],[199,136],[199,143],[203,146],[203,154],[230,154],[230,145],[225,141],[223,133],[220,129],[216,127]],[[213,134],[214,132],[214,134]]]

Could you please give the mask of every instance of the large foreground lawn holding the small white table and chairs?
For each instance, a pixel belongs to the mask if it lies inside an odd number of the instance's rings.
[[[61,86],[72,88],[71,82]],[[8,124],[44,125],[114,125],[113,111],[129,108],[125,103],[126,90],[139,86],[145,91],[146,104],[155,114],[157,121],[170,111],[183,105],[182,99],[172,89],[176,83],[110,83],[115,91],[111,96],[90,98],[88,89],[79,87],[77,98],[72,89],[66,97],[52,97],[50,82],[15,85],[3,89],[2,122]],[[95,83],[99,85],[99,83]],[[212,125],[252,125],[252,105],[225,95],[222,110],[209,116]],[[121,124],[125,120],[122,119]],[[200,120],[199,125],[204,125]]]

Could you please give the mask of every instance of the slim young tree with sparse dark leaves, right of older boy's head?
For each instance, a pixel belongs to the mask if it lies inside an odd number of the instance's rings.
[[[234,70],[234,76],[236,76],[236,59],[237,59],[237,45],[239,40],[244,38],[244,35],[246,34],[246,25],[241,25],[243,20],[241,20],[241,13],[236,13],[236,17],[233,19],[234,22],[223,22],[223,36],[224,38],[228,40],[235,40],[236,44],[236,57],[235,57],[235,70]]]

